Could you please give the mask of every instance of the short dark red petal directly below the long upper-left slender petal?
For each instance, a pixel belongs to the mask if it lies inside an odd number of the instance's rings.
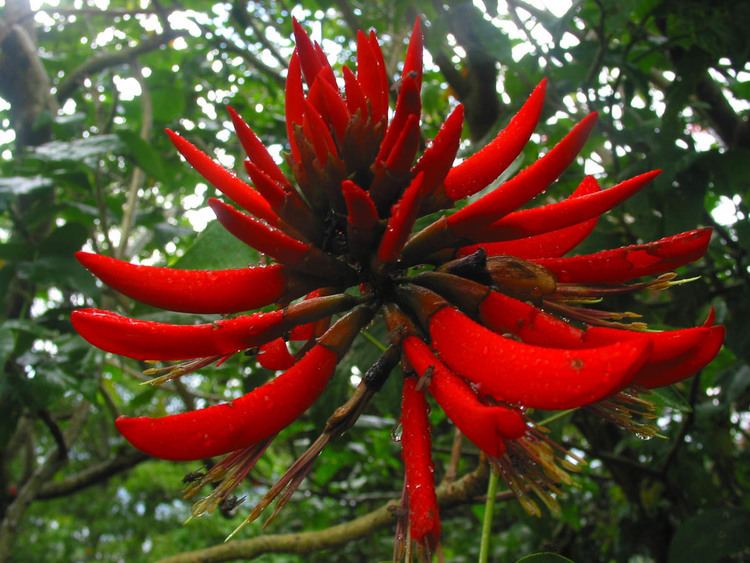
[[[208,204],[222,226],[245,244],[268,254],[282,264],[298,264],[310,252],[310,245],[270,225],[237,211],[223,201],[210,198]]]

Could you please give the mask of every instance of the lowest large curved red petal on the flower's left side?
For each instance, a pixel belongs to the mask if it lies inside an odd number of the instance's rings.
[[[177,461],[247,448],[299,418],[325,389],[336,353],[315,346],[288,371],[231,403],[160,418],[121,416],[117,429],[139,450]]]

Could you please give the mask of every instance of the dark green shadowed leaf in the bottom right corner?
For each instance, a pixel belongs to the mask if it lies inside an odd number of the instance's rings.
[[[712,563],[750,550],[750,510],[714,508],[686,520],[669,547],[669,563]]]

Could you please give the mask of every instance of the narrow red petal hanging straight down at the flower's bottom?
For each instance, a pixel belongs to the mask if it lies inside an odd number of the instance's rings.
[[[435,495],[434,467],[430,453],[427,402],[416,380],[404,379],[401,401],[401,448],[406,473],[409,533],[416,542],[434,549],[440,540],[440,514]]]

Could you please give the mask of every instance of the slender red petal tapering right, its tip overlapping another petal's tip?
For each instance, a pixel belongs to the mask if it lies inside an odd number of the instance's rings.
[[[481,237],[486,241],[518,239],[548,233],[596,218],[632,197],[660,173],[661,170],[652,170],[607,190],[510,213],[482,229]]]

